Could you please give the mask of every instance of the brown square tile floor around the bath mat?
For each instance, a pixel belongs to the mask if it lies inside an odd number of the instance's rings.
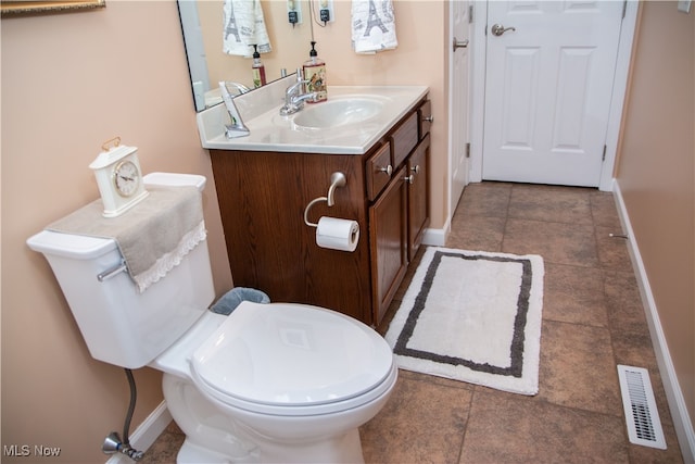
[[[607,192],[503,183],[466,187],[446,247],[544,258],[539,394],[401,371],[389,403],[361,428],[365,461],[682,462],[627,246],[610,233],[621,228]],[[617,364],[649,371],[667,450],[630,444]],[[140,462],[174,463],[181,441],[172,424]]]

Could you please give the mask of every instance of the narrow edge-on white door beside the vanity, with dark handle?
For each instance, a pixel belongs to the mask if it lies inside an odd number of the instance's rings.
[[[464,187],[468,184],[468,158],[466,146],[468,136],[468,91],[469,91],[469,10],[468,0],[455,0],[450,3],[452,38],[451,38],[451,76],[450,95],[450,217],[458,204]]]

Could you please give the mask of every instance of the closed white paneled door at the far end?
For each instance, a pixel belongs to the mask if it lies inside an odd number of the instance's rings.
[[[482,177],[596,187],[623,2],[488,3]]]

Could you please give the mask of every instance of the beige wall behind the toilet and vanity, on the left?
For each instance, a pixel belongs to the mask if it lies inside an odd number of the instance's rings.
[[[339,21],[315,27],[329,84],[431,87],[432,226],[441,227],[447,186],[446,3],[395,2],[399,49],[369,57],[350,49],[349,5],[336,2]],[[87,166],[104,140],[121,136],[139,148],[146,173],[208,177],[205,218],[216,291],[231,286],[177,8],[173,0],[108,0],[100,11],[3,18],[1,34],[1,444],[60,447],[53,462],[103,462],[104,437],[123,427],[125,375],[90,358],[46,260],[25,240],[98,197]],[[162,401],[159,373],[139,369],[136,379],[131,432]]]

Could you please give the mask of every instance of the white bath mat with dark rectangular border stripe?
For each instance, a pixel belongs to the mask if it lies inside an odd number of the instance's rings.
[[[428,248],[386,339],[399,367],[539,391],[543,259]]]

